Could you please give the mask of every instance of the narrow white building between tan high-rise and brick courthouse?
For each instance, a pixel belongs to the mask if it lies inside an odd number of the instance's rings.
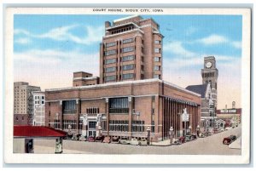
[[[45,125],[45,94],[42,91],[34,91],[33,95],[33,125]]]

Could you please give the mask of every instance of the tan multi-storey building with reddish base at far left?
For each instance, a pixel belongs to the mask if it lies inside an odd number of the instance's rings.
[[[41,89],[25,82],[14,84],[14,124],[32,125],[32,92]]]

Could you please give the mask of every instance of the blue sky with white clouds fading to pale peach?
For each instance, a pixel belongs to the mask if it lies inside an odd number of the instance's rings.
[[[44,88],[69,87],[73,71],[99,73],[104,22],[129,15],[15,14],[15,81]],[[142,15],[160,25],[164,79],[181,87],[201,83],[203,57],[214,55],[220,101],[240,101],[241,15]],[[29,77],[27,77],[29,76]],[[38,77],[39,76],[39,77]],[[192,79],[191,79],[192,78]],[[226,92],[227,83],[235,83]],[[230,95],[234,97],[230,97]],[[227,102],[227,100],[230,100]]]

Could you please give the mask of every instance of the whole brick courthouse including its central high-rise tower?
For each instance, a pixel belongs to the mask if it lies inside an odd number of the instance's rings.
[[[45,90],[45,122],[86,136],[147,137],[154,141],[196,133],[201,94],[162,79],[162,38],[153,19],[105,23],[100,77],[73,73],[73,87]],[[188,117],[184,115],[188,112]]]

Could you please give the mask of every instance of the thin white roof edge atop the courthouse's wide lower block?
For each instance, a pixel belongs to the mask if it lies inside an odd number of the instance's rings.
[[[45,89],[45,92],[51,92],[51,91],[62,91],[62,90],[73,90],[73,89],[86,89],[86,88],[101,88],[101,87],[108,87],[108,86],[114,86],[114,85],[125,85],[125,84],[131,84],[131,83],[165,83],[166,85],[171,86],[172,88],[177,88],[178,90],[181,90],[183,92],[194,94],[196,96],[201,97],[201,94],[196,94],[195,92],[189,91],[186,88],[179,87],[173,83],[169,83],[163,80],[160,80],[158,78],[152,78],[152,79],[145,79],[145,80],[135,80],[135,81],[123,81],[123,82],[114,82],[114,83],[102,83],[102,84],[96,84],[96,85],[89,85],[89,86],[78,86],[78,87],[69,87],[69,88],[50,88]]]

